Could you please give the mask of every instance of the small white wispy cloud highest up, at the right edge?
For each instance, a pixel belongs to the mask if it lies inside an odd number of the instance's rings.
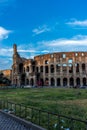
[[[71,26],[80,26],[80,27],[87,27],[87,20],[79,21],[79,20],[71,20],[70,22],[67,22],[66,24]]]

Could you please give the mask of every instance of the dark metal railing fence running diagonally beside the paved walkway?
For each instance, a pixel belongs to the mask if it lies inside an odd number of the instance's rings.
[[[0,109],[31,121],[47,130],[87,130],[87,121],[27,107],[23,104],[0,101]]]

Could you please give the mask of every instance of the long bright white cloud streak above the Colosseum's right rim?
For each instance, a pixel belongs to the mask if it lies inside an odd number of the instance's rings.
[[[61,38],[52,41],[43,41],[42,44],[49,47],[56,46],[87,46],[87,35],[77,35],[70,39]]]

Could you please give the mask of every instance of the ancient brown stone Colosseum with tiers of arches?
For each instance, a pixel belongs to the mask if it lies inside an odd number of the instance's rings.
[[[13,46],[12,84],[75,87],[87,85],[87,52],[57,52],[20,57]]]

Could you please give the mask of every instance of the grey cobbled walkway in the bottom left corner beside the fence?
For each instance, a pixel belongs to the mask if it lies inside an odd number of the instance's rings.
[[[30,130],[22,123],[0,112],[0,130]]]

